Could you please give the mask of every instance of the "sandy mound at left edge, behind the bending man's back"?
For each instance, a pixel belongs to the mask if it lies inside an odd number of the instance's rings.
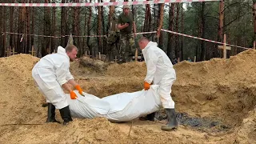
[[[39,92],[31,77],[36,62],[38,58],[28,54],[0,58],[1,124],[31,122],[38,114],[36,121],[40,119],[43,98],[38,97]]]

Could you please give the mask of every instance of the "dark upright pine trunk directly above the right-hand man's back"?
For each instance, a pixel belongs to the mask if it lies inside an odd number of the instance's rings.
[[[174,31],[174,3],[171,3],[169,7],[169,30]],[[173,54],[173,40],[174,40],[174,34],[168,33],[168,44],[167,44],[167,55],[170,58],[170,60],[173,60],[174,54]]]

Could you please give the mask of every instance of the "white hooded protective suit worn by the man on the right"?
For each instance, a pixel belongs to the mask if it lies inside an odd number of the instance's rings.
[[[170,58],[166,53],[158,48],[156,42],[149,42],[142,49],[147,68],[145,82],[154,82],[159,85],[158,94],[160,95],[162,106],[166,109],[174,109],[174,101],[170,97],[171,86],[176,80],[176,73]]]

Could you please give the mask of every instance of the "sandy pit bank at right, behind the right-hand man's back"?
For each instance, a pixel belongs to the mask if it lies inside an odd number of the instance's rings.
[[[226,60],[178,63],[173,89],[177,109],[239,125],[256,104],[255,58],[256,50],[246,50]]]

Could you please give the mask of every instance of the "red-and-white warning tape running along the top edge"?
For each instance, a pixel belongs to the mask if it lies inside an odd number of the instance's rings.
[[[86,3],[0,3],[0,6],[122,6],[122,5],[146,5],[154,3],[178,3],[178,2],[213,2],[220,0],[154,0],[154,1],[135,1],[135,2],[86,2]]]

